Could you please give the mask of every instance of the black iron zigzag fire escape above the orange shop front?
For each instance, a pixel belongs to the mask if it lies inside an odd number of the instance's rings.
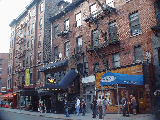
[[[100,31],[101,36],[104,38],[105,43],[101,44],[101,45],[89,45],[89,48],[87,49],[87,52],[92,55],[92,53],[94,52],[95,55],[100,59],[101,63],[104,65],[105,70],[107,70],[107,64],[106,64],[106,60],[104,59],[104,54],[102,54],[102,50],[104,50],[104,48],[106,48],[109,45],[115,45],[118,44],[120,45],[120,42],[118,41],[118,36],[114,39],[110,39],[107,41],[107,32],[103,32],[102,29],[99,27],[99,23],[98,21],[100,19],[104,19],[104,17],[108,16],[110,17],[111,14],[116,12],[116,9],[113,7],[110,7],[106,4],[106,6],[104,7],[98,0],[96,0],[97,3],[99,4],[99,6],[101,7],[100,11],[97,11],[94,14],[90,14],[89,17],[85,18],[84,21],[89,23],[89,27],[91,26],[91,24],[94,24],[96,26],[96,29],[98,31]],[[104,50],[104,52],[106,52],[106,50]],[[106,55],[107,56],[107,55]]]

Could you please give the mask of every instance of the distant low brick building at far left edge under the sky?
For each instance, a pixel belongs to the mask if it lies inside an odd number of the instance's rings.
[[[7,92],[8,60],[8,53],[0,53],[0,93],[2,95]]]

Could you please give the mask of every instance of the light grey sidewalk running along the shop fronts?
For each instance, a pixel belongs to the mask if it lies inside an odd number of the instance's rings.
[[[11,108],[0,108],[2,111],[9,111],[19,114],[26,114],[26,115],[32,115],[32,116],[42,116],[47,118],[59,118],[63,120],[103,120],[97,118],[92,118],[92,113],[86,113],[86,116],[82,116],[80,114],[79,116],[75,114],[71,114],[70,117],[65,117],[64,114],[55,114],[55,113],[39,113],[39,112],[30,112],[25,110],[17,110],[17,109],[11,109]],[[123,117],[122,114],[106,114],[104,116],[104,120],[155,120],[155,116],[152,114],[137,114],[133,115],[131,114],[130,117]]]

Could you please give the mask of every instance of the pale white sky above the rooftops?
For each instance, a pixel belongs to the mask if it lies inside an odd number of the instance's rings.
[[[16,19],[32,0],[0,0],[0,53],[9,53],[11,28]],[[71,2],[71,0],[65,0]]]

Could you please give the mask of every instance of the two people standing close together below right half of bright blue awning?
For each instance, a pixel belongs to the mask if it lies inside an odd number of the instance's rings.
[[[126,93],[124,94],[122,98],[122,110],[123,110],[123,116],[129,116],[129,111],[128,111],[128,105],[131,106],[131,109],[133,109],[133,114],[136,115],[136,99],[133,97],[133,95],[130,95],[130,102],[128,102]]]

